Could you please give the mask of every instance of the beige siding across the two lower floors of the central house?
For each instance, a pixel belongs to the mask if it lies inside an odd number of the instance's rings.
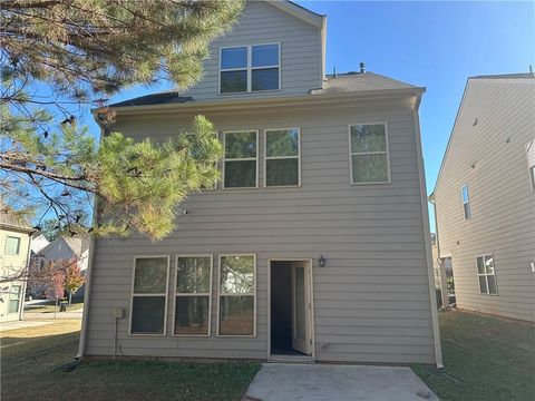
[[[378,113],[377,110],[380,110]],[[135,139],[176,135],[193,116],[153,115],[119,121]],[[268,356],[268,260],[313,260],[315,355],[319,361],[435,362],[431,310],[412,109],[407,106],[340,106],[325,110],[256,110],[207,114],[220,133],[301,129],[301,187],[215,189],[193,195],[168,238],[97,241],[86,352],[113,352],[114,307],[129,305],[134,255],[213,254],[212,335],[160,339],[127,335],[118,322],[118,354],[147,356]],[[387,121],[392,183],[350,185],[348,125]],[[220,135],[220,138],[222,136]],[[220,254],[256,254],[256,336],[217,338]],[[320,254],[327,257],[319,267]],[[169,282],[175,281],[172,270]],[[172,296],[172,293],[169,294]],[[172,309],[168,310],[172,322]],[[128,315],[128,313],[126,313]],[[323,346],[322,346],[323,344]]]

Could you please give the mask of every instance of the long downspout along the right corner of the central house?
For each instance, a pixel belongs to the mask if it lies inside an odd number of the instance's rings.
[[[420,120],[418,117],[418,107],[420,105],[421,95],[418,95],[415,108],[412,110],[412,119],[415,123],[416,130],[416,150],[418,153],[418,172],[419,172],[419,183],[420,183],[420,202],[421,202],[421,213],[424,218],[424,236],[426,243],[426,261],[427,261],[427,275],[429,282],[429,301],[431,306],[431,322],[432,322],[432,336],[435,343],[435,360],[438,369],[442,369],[442,350],[440,348],[440,330],[438,324],[438,307],[437,307],[437,297],[435,295],[435,273],[432,267],[432,255],[431,255],[431,232],[429,228],[429,208],[427,206],[427,194],[426,194],[426,173],[424,169],[424,153],[421,148],[421,135],[420,135]]]

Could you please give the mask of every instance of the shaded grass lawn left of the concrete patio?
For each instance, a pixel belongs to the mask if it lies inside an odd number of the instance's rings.
[[[1,400],[239,401],[259,363],[84,362],[71,372],[80,322],[0,333]]]

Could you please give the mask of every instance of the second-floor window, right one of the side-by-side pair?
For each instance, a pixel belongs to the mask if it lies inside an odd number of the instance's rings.
[[[300,130],[265,130],[265,186],[295,186],[301,184]]]

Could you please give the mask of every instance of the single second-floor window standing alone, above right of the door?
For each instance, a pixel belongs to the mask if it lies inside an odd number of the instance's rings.
[[[387,125],[362,124],[349,127],[351,184],[390,182]]]

